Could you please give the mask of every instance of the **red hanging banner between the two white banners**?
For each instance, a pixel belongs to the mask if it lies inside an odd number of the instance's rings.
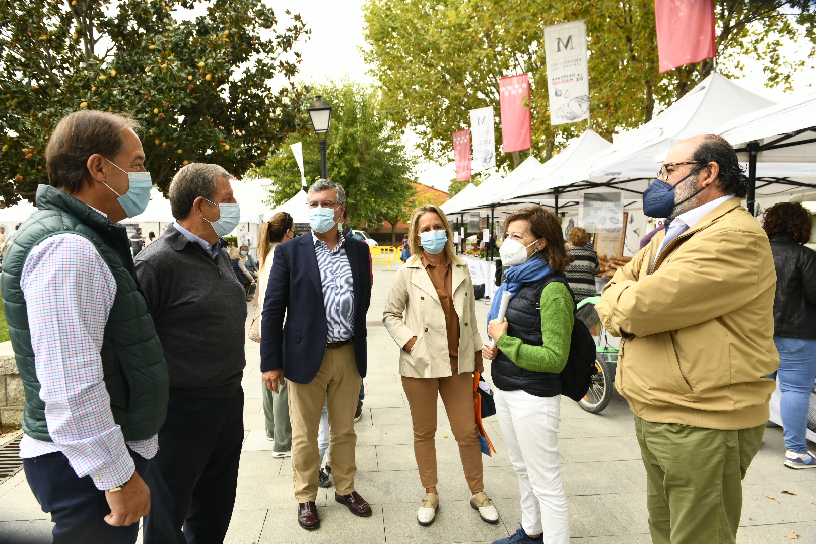
[[[526,73],[499,77],[499,110],[502,116],[502,152],[533,146],[530,135],[530,78]]]

